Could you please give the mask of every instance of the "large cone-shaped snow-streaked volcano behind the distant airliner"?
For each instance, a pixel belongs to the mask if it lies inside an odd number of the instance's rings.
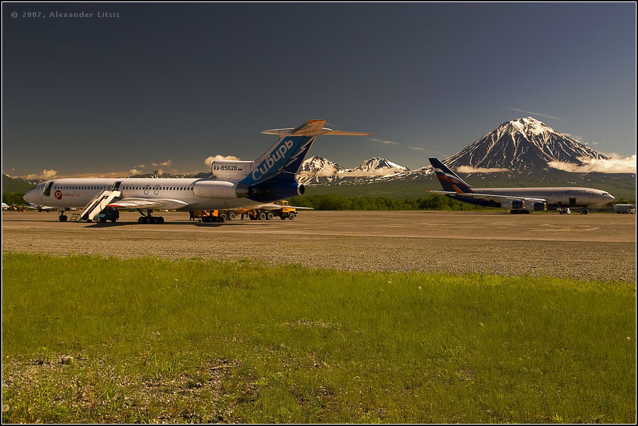
[[[552,161],[581,165],[579,157],[608,159],[532,117],[507,121],[444,160],[452,169],[465,172],[505,171],[533,174]]]

